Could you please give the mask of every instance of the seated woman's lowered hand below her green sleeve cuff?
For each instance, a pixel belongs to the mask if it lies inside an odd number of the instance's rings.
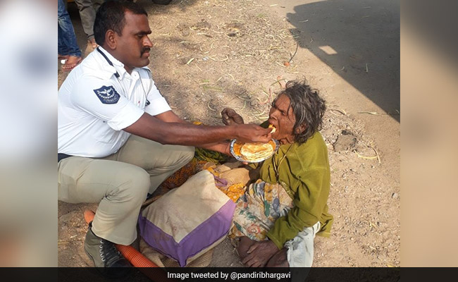
[[[255,242],[247,251],[247,257],[242,263],[248,267],[263,267],[273,255],[278,252],[278,247],[271,240]]]

